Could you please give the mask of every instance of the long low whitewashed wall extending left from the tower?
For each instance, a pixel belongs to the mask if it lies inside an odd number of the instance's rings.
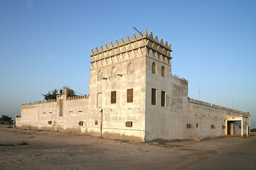
[[[58,101],[63,99],[63,115],[60,116]],[[53,103],[37,103],[21,108],[21,118],[16,118],[16,126],[27,126],[36,129],[66,130],[69,132],[86,132],[92,135],[99,133],[95,126],[95,117],[88,109],[89,98],[66,101],[66,96],[59,96]],[[52,124],[49,125],[48,121]],[[78,125],[83,121],[83,125]]]

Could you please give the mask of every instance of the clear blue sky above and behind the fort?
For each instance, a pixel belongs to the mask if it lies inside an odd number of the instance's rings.
[[[89,93],[91,48],[137,30],[172,43],[188,96],[250,112],[256,128],[256,1],[0,0],[0,115],[69,86]],[[200,92],[200,95],[199,95]]]

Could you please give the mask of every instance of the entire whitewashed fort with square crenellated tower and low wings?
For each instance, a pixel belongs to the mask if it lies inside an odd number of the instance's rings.
[[[171,43],[152,32],[91,51],[89,95],[22,104],[16,127],[137,140],[249,135],[250,113],[188,98],[171,74]]]

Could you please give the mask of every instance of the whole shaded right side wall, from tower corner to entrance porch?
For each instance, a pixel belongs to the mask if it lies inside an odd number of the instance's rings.
[[[151,72],[152,62],[156,62],[157,74]],[[156,58],[146,57],[145,140],[224,136],[227,128],[226,116],[240,117],[243,115],[243,113],[206,106],[207,104],[188,102],[188,82],[171,76],[170,66],[166,69],[166,78],[161,77],[161,67],[163,65],[164,63],[156,61]],[[152,88],[157,90],[156,106],[151,104]],[[161,91],[166,91],[166,107],[161,106]],[[247,120],[247,122],[250,122],[250,120]],[[187,128],[187,124],[189,124],[189,128]],[[246,135],[245,123],[243,130]],[[239,132],[241,133],[241,130]]]

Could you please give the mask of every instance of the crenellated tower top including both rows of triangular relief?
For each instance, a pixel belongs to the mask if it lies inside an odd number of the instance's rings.
[[[171,64],[171,43],[166,41],[164,43],[163,38],[159,41],[158,36],[153,37],[152,31],[148,35],[147,31],[144,34],[140,32],[137,37],[133,33],[132,38],[123,40],[121,38],[119,42],[117,39],[110,41],[110,45],[105,43],[104,47],[100,45],[99,50],[95,47],[95,50],[91,50],[92,68],[102,67],[107,64],[114,64],[123,60],[129,60],[135,57],[149,56],[154,57],[156,60]]]

